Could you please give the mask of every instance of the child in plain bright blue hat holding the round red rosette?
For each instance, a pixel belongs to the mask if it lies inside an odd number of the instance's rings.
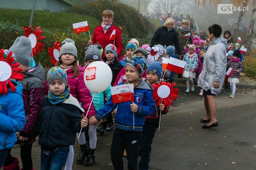
[[[169,47],[169,46],[168,46]],[[162,64],[159,62],[152,62],[148,65],[147,68],[147,80],[148,84],[157,84],[159,83],[162,77]],[[151,153],[151,144],[155,136],[156,128],[159,126],[160,121],[160,111],[161,114],[166,114],[169,110],[169,105],[164,106],[160,104],[156,107],[157,110],[154,111],[149,116],[145,117],[145,125],[143,126],[142,131],[142,144],[139,151],[139,156],[141,157],[139,162],[139,169],[149,169],[149,160]]]

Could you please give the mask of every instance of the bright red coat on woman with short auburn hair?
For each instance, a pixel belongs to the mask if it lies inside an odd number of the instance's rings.
[[[114,40],[109,40],[113,30],[116,30],[115,44],[114,44]],[[95,27],[92,42],[93,44],[96,42],[99,43],[102,46],[103,50],[105,50],[105,47],[108,44],[114,44],[117,47],[117,57],[120,56],[123,50],[121,31],[119,28],[115,27],[113,24],[108,29],[108,31],[106,31],[105,34],[101,25],[98,27]],[[101,55],[101,58],[104,58],[104,57],[105,57],[105,53],[103,52]]]

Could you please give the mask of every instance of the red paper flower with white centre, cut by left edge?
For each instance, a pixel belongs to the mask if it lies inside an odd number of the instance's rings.
[[[10,51],[7,57],[4,59],[4,49],[1,49],[0,51],[0,94],[7,94],[7,83],[12,92],[16,90],[10,78],[16,80],[23,80],[24,78],[23,74],[18,73],[22,71],[21,67],[17,67],[20,65],[20,63],[12,64],[15,60],[14,57],[11,57],[12,54],[13,52]]]

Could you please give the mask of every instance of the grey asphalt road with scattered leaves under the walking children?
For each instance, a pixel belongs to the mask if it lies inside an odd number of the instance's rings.
[[[157,130],[154,137],[150,169],[255,169],[256,91],[237,90],[232,99],[230,93],[223,90],[216,97],[219,127],[206,130],[202,129],[204,124],[199,123],[205,117],[203,97],[197,95],[199,89],[185,93],[185,84],[177,86],[179,97],[163,115],[160,132]],[[114,169],[110,160],[112,134],[113,131],[97,134],[96,163],[93,166],[85,167],[74,161],[73,170]],[[79,154],[78,145],[76,141],[75,158]],[[19,153],[19,148],[12,151],[18,158]],[[34,169],[40,169],[40,145],[37,142],[33,144],[32,157]],[[123,160],[127,169],[127,160]]]

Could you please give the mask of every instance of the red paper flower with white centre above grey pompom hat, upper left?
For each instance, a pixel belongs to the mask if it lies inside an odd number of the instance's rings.
[[[43,31],[41,30],[40,27],[37,27],[35,29],[32,25],[30,25],[29,28],[23,27],[23,30],[25,31],[25,37],[28,37],[31,42],[31,46],[32,46],[31,56],[34,57],[35,55],[39,54],[39,51],[43,50],[42,46],[44,46],[44,44],[37,41],[37,40],[44,39],[44,36],[38,37],[40,34],[43,33]]]

